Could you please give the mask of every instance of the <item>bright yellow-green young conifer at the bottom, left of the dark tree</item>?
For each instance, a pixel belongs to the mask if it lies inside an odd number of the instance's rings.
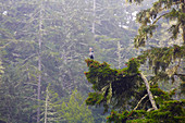
[[[84,102],[84,97],[74,90],[69,100],[60,107],[60,116],[66,123],[94,123],[91,111]]]

